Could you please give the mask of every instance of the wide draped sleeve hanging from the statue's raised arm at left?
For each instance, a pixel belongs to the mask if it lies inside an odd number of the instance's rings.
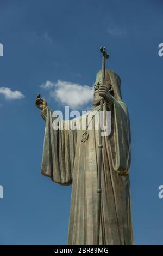
[[[62,129],[53,129],[52,111],[47,107],[41,112],[46,121],[43,142],[41,174],[61,185],[72,184],[73,164],[76,151],[76,130],[66,129],[71,121],[58,118]]]

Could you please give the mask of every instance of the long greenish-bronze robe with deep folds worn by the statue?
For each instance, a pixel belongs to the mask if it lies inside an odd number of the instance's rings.
[[[114,100],[111,134],[103,136],[102,194],[99,245],[132,245],[130,203],[130,122],[125,103]],[[99,106],[97,110],[99,122]],[[99,131],[82,141],[84,130],[54,130],[51,110],[41,112],[46,120],[41,173],[61,185],[72,184],[68,245],[96,245],[97,175]],[[81,118],[81,117],[78,117]],[[74,120],[73,120],[74,121]]]

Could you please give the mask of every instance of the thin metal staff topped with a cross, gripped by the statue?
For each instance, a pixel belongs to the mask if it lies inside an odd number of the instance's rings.
[[[105,83],[105,61],[109,58],[106,48],[100,47],[101,53],[103,53],[102,60],[102,84]],[[99,155],[98,155],[98,188],[97,188],[97,245],[99,245],[99,227],[100,227],[100,216],[101,216],[101,168],[102,168],[102,148],[103,148],[103,136],[102,136],[102,123],[103,123],[103,104],[104,98],[100,100],[100,112],[99,112]]]

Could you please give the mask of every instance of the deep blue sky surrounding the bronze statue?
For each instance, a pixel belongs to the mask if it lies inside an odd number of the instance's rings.
[[[45,122],[34,100],[40,92],[62,110],[64,100],[40,85],[91,87],[101,45],[110,54],[106,67],[122,79],[130,113],[135,244],[163,243],[162,8],[161,0],[0,0],[1,245],[67,243],[71,187],[40,174]]]

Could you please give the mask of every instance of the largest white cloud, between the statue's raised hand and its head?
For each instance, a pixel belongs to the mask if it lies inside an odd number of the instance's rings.
[[[51,97],[70,108],[81,107],[93,99],[93,87],[87,85],[58,80],[55,84],[47,81],[41,87],[49,88]]]

